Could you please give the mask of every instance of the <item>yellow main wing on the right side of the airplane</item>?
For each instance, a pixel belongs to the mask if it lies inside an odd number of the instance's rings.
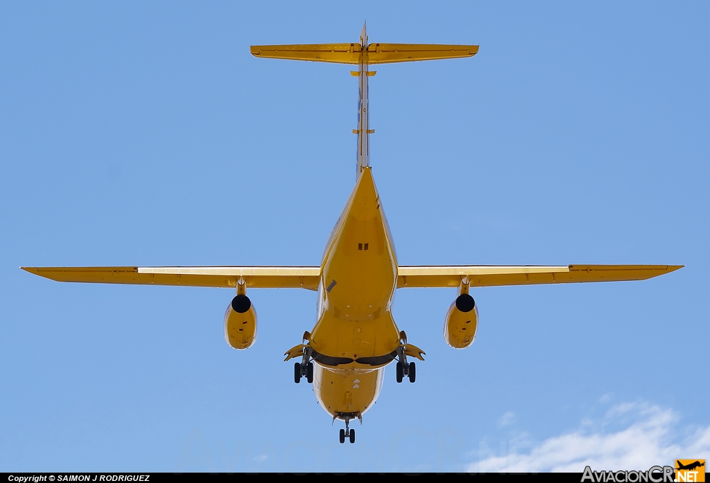
[[[682,267],[682,265],[400,266],[397,271],[397,288],[458,287],[464,277],[469,278],[471,287],[646,280]]]

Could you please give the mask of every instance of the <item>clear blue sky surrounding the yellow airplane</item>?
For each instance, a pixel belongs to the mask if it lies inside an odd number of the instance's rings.
[[[365,19],[373,42],[481,46],[371,79],[401,264],[686,268],[475,290],[465,351],[442,338],[454,290],[399,290],[427,360],[413,385],[388,368],[355,445],[283,363],[314,293],[249,292],[258,340],[238,352],[229,290],[18,269],[319,263],[354,184],[356,79],[249,45],[356,41]],[[0,470],[709,457],[709,22],[702,2],[1,3]]]

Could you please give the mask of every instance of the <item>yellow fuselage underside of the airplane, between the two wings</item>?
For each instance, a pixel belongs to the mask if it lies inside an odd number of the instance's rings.
[[[318,322],[310,334],[313,387],[328,414],[361,416],[375,402],[384,366],[402,345],[392,317],[397,258],[372,170],[366,167],[322,261]]]

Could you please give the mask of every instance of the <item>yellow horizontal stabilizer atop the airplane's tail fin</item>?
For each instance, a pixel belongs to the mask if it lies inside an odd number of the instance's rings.
[[[459,59],[473,57],[478,45],[436,44],[370,44],[365,50],[357,43],[252,45],[251,55],[268,59],[310,60],[337,64],[359,64],[361,56],[366,64],[392,64],[417,60]]]

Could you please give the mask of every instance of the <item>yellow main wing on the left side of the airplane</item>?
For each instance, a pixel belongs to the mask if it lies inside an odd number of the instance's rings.
[[[129,283],[236,287],[244,278],[249,288],[307,288],[318,290],[320,267],[21,267],[58,282]]]

